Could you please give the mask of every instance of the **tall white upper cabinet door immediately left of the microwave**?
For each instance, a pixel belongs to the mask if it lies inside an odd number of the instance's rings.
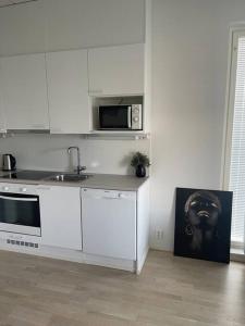
[[[46,61],[51,133],[88,133],[87,50],[47,53]]]

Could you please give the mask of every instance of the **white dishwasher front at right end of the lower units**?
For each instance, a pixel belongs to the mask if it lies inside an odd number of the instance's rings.
[[[136,260],[136,192],[82,189],[83,251]]]

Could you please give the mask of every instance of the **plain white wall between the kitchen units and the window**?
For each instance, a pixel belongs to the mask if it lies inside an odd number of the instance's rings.
[[[151,242],[171,250],[175,187],[219,189],[229,25],[243,0],[152,1]],[[156,241],[155,228],[163,229]]]

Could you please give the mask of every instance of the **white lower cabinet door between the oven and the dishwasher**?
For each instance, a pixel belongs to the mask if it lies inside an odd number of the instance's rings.
[[[41,242],[82,250],[79,188],[39,186]]]

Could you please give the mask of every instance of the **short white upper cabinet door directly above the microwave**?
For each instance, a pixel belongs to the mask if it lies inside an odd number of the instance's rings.
[[[143,95],[144,45],[88,50],[89,93]]]

